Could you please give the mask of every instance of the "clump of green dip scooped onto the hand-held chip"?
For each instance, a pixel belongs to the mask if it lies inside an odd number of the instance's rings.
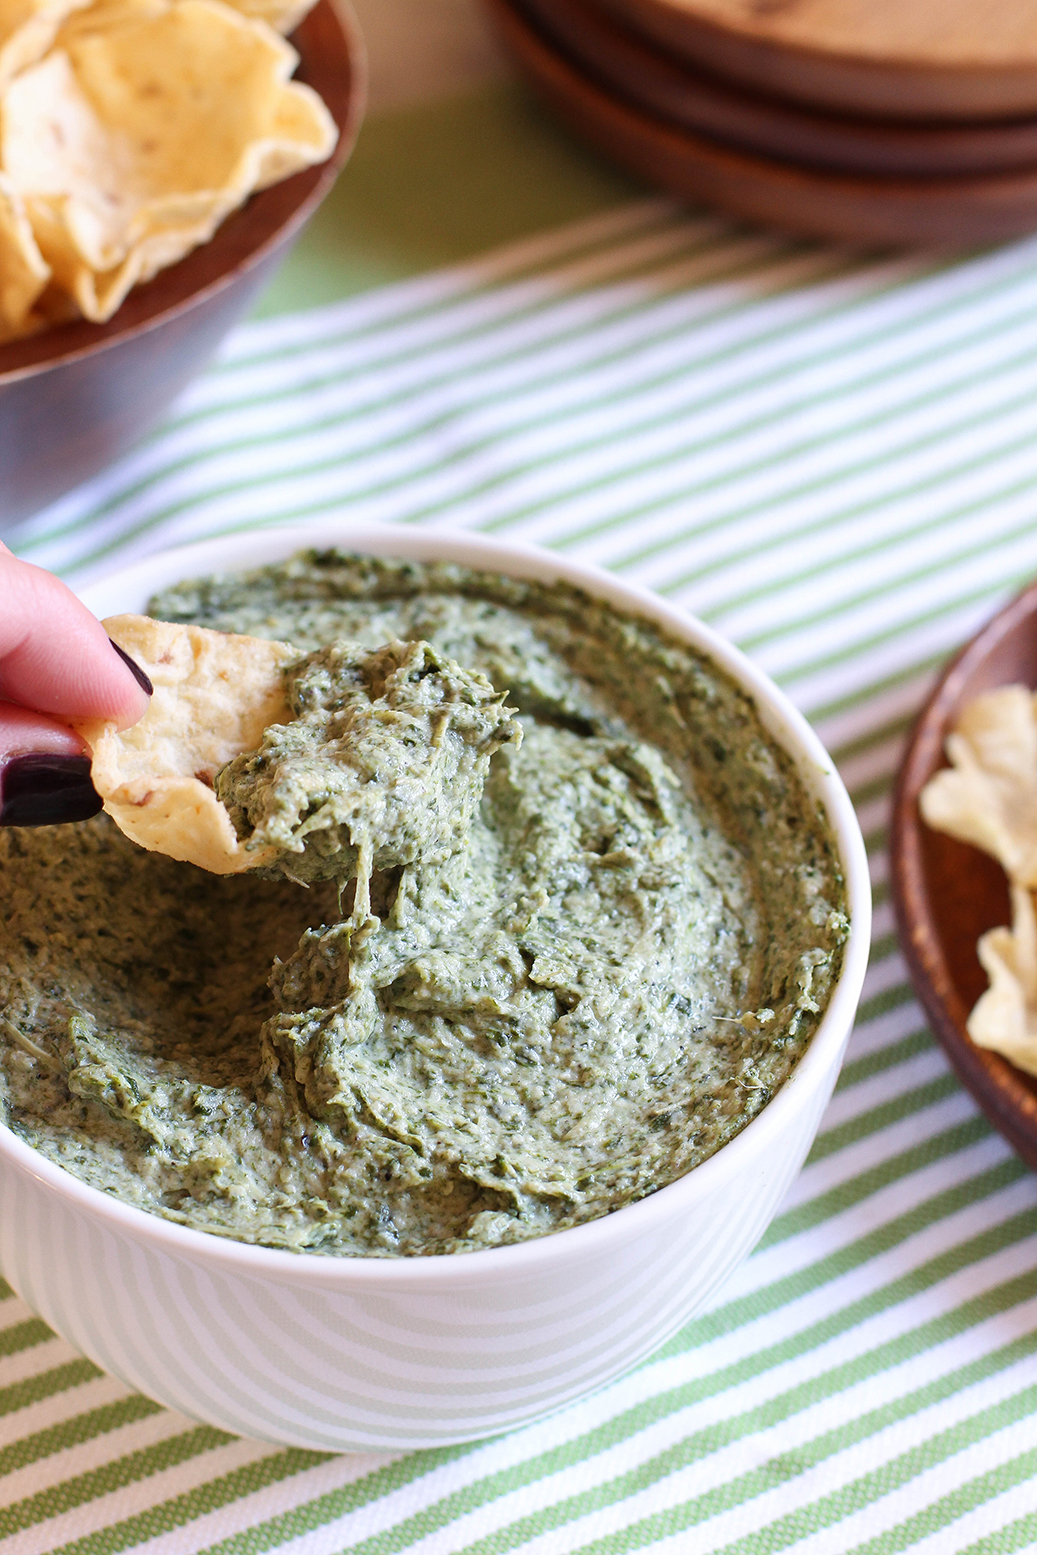
[[[519,745],[507,692],[431,642],[370,650],[336,641],[285,666],[289,718],[216,774],[250,857],[274,847],[300,883],[356,880],[367,917],[375,869],[459,854],[490,771]]]

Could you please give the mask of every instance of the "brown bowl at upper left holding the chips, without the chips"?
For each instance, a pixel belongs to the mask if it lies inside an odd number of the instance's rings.
[[[364,47],[336,0],[292,36],[299,81],[339,126],[331,157],[253,194],[211,243],[135,286],[107,323],[0,345],[0,527],[36,513],[132,448],[213,355],[348,157],[364,110]]]

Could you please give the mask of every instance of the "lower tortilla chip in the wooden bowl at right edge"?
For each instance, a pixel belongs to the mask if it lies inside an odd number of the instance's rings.
[[[992,928],[978,953],[990,987],[969,1015],[969,1036],[1037,1075],[1037,919],[1025,886],[1012,886],[1012,928]]]

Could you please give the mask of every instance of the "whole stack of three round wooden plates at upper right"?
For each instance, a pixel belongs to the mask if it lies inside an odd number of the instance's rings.
[[[522,70],[650,182],[790,232],[1037,229],[1037,0],[487,0]]]

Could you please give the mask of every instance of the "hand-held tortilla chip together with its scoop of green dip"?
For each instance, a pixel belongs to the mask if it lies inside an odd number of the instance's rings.
[[[459,852],[490,757],[521,726],[485,675],[428,642],[300,655],[285,642],[115,616],[151,676],[129,729],[79,725],[104,809],[134,841],[215,874],[356,879]]]

